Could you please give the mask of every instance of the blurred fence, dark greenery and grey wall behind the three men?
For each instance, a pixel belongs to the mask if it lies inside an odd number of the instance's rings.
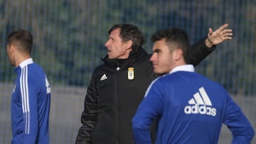
[[[224,23],[233,40],[217,46],[196,67],[233,96],[256,130],[255,0],[0,0],[0,143],[11,143],[11,92],[14,67],[6,55],[6,37],[23,28],[33,35],[32,57],[51,84],[50,143],[75,143],[86,87],[102,64],[108,29],[132,23],[151,35],[163,28],[183,28],[191,44]],[[219,143],[231,143],[223,126]],[[256,143],[255,138],[252,143]]]

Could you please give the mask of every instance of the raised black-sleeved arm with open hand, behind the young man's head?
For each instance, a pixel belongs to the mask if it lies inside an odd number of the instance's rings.
[[[209,28],[207,37],[191,46],[191,58],[189,63],[194,66],[198,65],[210,52],[215,50],[215,45],[223,43],[225,40],[231,40],[232,35],[232,29],[228,29],[228,24],[220,26],[216,31]]]

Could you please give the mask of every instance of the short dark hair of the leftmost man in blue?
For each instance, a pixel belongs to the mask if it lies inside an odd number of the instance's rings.
[[[33,37],[29,31],[19,29],[12,31],[7,38],[7,45],[17,45],[19,50],[31,54]]]

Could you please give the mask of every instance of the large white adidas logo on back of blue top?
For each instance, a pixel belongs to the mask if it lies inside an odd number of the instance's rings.
[[[216,109],[213,108],[206,90],[201,87],[199,92],[193,94],[193,98],[188,101],[189,106],[185,106],[184,112],[186,114],[206,114],[209,116],[216,116]]]

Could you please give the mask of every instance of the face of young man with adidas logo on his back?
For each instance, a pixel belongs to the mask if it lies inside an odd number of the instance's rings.
[[[150,61],[154,66],[154,73],[166,74],[174,68],[174,52],[169,49],[165,40],[158,40],[153,45]]]

